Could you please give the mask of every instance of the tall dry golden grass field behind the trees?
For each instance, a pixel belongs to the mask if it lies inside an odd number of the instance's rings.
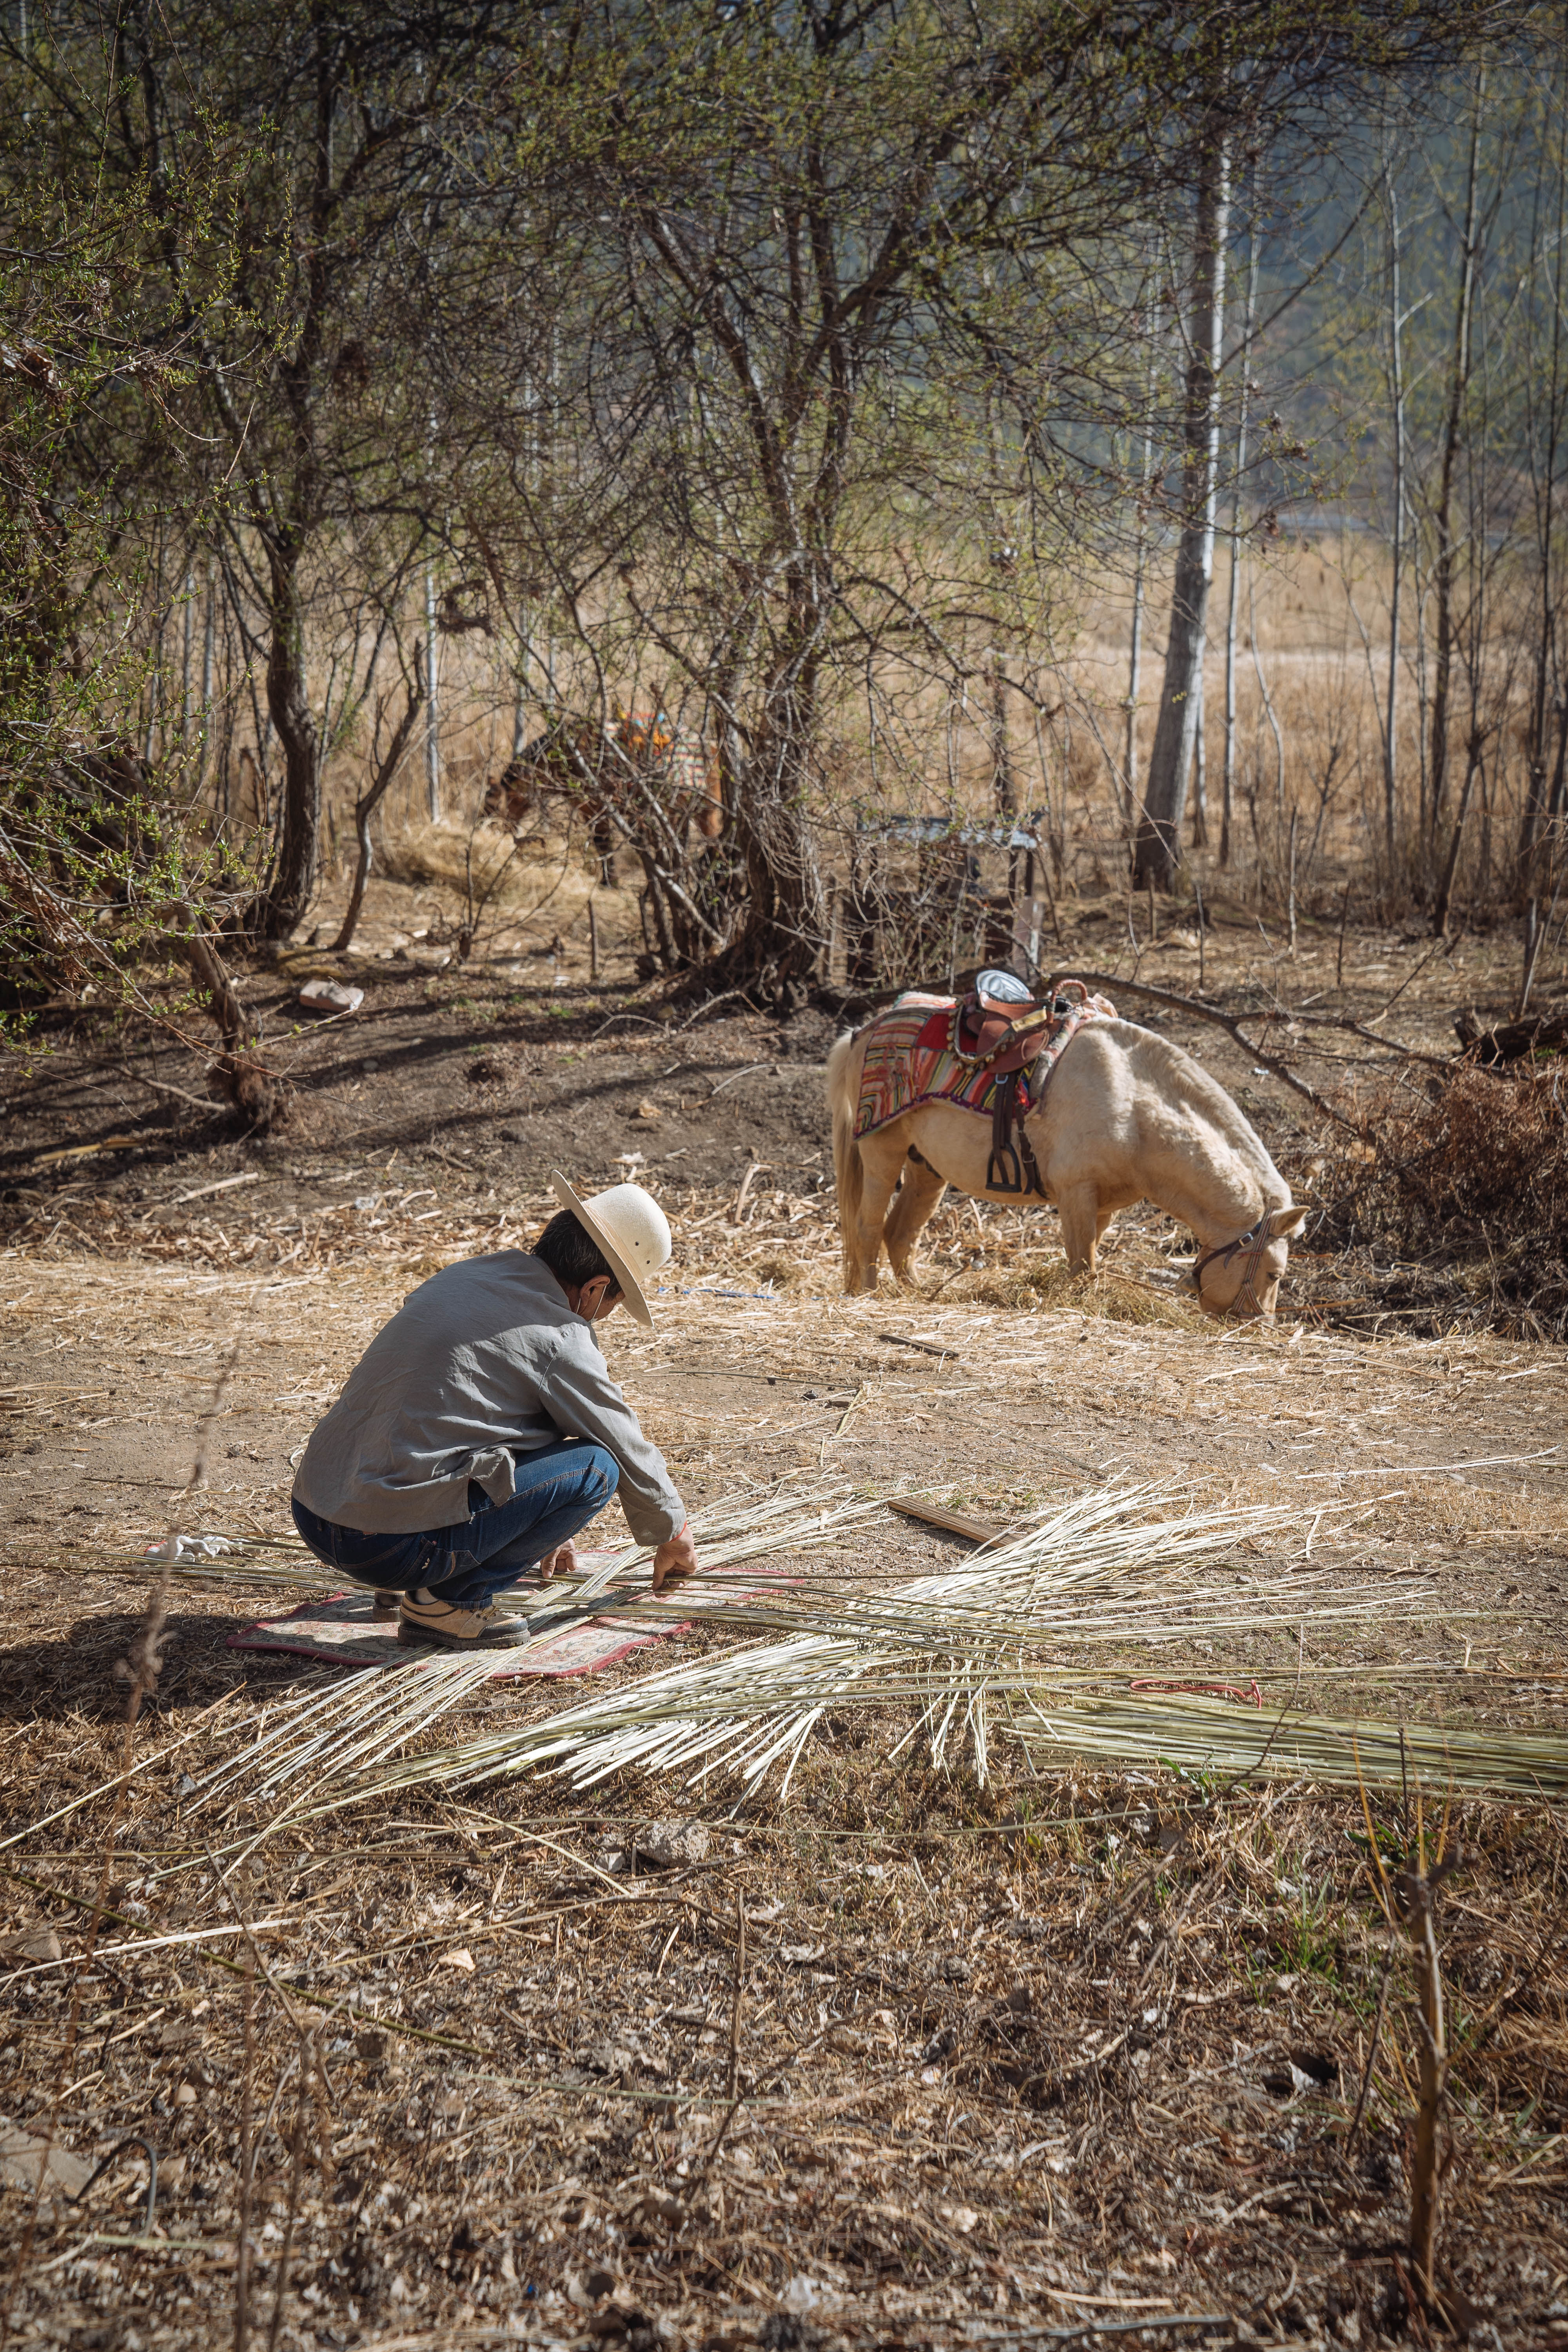
[[[1018,652],[1011,656],[1016,691],[1006,720],[1006,767],[1016,807],[1027,811],[1056,842],[1058,889],[1067,901],[1124,896],[1126,870],[1126,703],[1131,691],[1131,586],[1119,572],[1086,567],[1058,583],[1060,612],[1048,637],[1018,619]],[[1420,837],[1420,807],[1432,760],[1429,673],[1432,644],[1418,635],[1406,612],[1401,633],[1401,684],[1394,720],[1399,851],[1385,849],[1385,699],[1389,635],[1389,557],[1385,543],[1342,517],[1312,515],[1300,527],[1286,517],[1276,536],[1253,534],[1237,581],[1234,654],[1234,811],[1229,863],[1220,866],[1229,550],[1215,555],[1208,654],[1204,663],[1204,830],[1197,828],[1199,783],[1187,807],[1192,873],[1206,901],[1244,906],[1248,920],[1269,927],[1286,915],[1291,882],[1291,823],[1295,818],[1295,896],[1302,915],[1333,922],[1349,889],[1352,924],[1371,917],[1394,927],[1420,927],[1422,908],[1448,849],[1453,795],[1436,840]],[[1161,550],[1147,574],[1143,607],[1143,659],[1135,691],[1135,779],[1147,774],[1159,708],[1161,654],[1168,628],[1168,579]],[[1519,623],[1519,633],[1514,630]],[[1427,621],[1429,626],[1429,621]],[[1034,654],[1027,647],[1037,647]],[[1521,795],[1528,764],[1528,623],[1505,602],[1493,612],[1493,633],[1481,656],[1476,703],[1486,736],[1486,760],[1476,776],[1460,844],[1453,929],[1490,929],[1509,913],[1519,891],[1514,866]],[[663,654],[649,668],[651,647],[618,647],[625,673],[614,689],[642,708],[649,696],[677,701],[675,682],[663,687]],[[320,649],[324,659],[324,649]],[[447,640],[440,720],[440,821],[430,823],[430,786],[423,757],[409,755],[393,783],[374,835],[378,870],[393,884],[414,884],[428,908],[449,896],[456,910],[473,884],[477,896],[496,877],[505,835],[482,826],[484,786],[512,753],[515,684],[484,640]],[[611,661],[614,668],[614,661]],[[552,673],[564,708],[597,710],[602,673],[569,644],[555,644]],[[1465,694],[1469,680],[1465,677]],[[698,699],[684,706],[698,724]],[[884,652],[875,684],[875,729],[867,722],[860,670],[835,703],[827,694],[825,729],[816,762],[818,816],[825,856],[846,870],[856,828],[870,830],[889,811],[940,811],[966,821],[990,821],[997,793],[997,736],[987,696],[973,682],[950,689],[924,668],[905,668]],[[545,724],[545,706],[529,701],[524,736]],[[1427,739],[1427,741],[1422,741]],[[1455,720],[1450,764],[1462,769]],[[364,779],[364,743],[353,727],[324,762],[329,884],[324,913],[348,896],[353,866],[353,800]],[[254,818],[254,800],[223,800],[240,821]],[[559,818],[559,807],[552,811]],[[529,818],[529,830],[534,818]],[[865,851],[865,842],[860,842]],[[1561,842],[1542,863],[1544,898],[1563,873]],[[555,931],[585,931],[592,858],[581,833],[557,840],[550,814],[538,818],[520,861],[501,875],[487,901],[484,922],[494,938],[520,936],[545,946]],[[637,910],[625,882],[637,880],[635,856],[621,851],[621,891],[599,898],[604,938],[637,938]],[[1542,875],[1537,875],[1537,887]],[[541,903],[548,894],[548,908]],[[1190,896],[1190,891],[1185,891]],[[548,913],[548,922],[543,920]],[[1559,913],[1563,913],[1559,901]],[[400,889],[383,901],[390,927],[407,922]],[[541,920],[529,922],[538,915]],[[510,922],[508,922],[510,917]],[[454,917],[456,920],[456,917]],[[1119,917],[1117,917],[1119,920]],[[1190,927],[1190,915],[1187,915]],[[329,924],[331,936],[336,924]],[[371,922],[374,934],[374,922]],[[369,934],[367,934],[369,936]],[[1559,941],[1561,953],[1561,941]],[[1516,981],[1516,974],[1512,974]]]

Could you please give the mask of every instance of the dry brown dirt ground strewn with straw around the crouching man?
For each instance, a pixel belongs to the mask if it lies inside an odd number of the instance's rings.
[[[400,913],[374,903],[369,950]],[[1070,929],[1074,967],[1110,969],[1103,934]],[[1274,971],[1272,946],[1220,931],[1206,985],[1215,960],[1220,985]],[[1568,1729],[1561,1350],[1399,1336],[1375,1301],[1356,1324],[1312,1249],[1274,1331],[1201,1324],[1161,1287],[1180,1237],[1154,1214],[1124,1221],[1119,1282],[1020,1291],[1053,1218],[952,1204],[924,1296],[844,1301],[835,1018],[693,1016],[625,971],[595,990],[576,938],[524,950],[463,971],[371,953],[364,1009],[320,1028],[294,1004],[320,957],[259,974],[296,1089],[270,1138],[205,1105],[200,1051],[92,1007],[49,1014],[56,1051],[12,1070],[5,2326],[85,2352],[1441,2340],[1401,2284],[1420,2030],[1354,1792],[1157,1757],[1041,1773],[1006,1743],[980,1780],[973,1755],[896,1755],[896,1712],[846,1708],[788,1797],[414,1788],[284,1828],[219,1884],[228,1830],[181,1813],[183,1783],[334,1672],[228,1649],[287,1592],[214,1578],[174,1592],[141,1769],[92,1795],[125,1755],[136,1555],[181,1508],[219,1367],[186,1524],[280,1531],[292,1461],[369,1334],[435,1265],[527,1240],[552,1164],[637,1171],[670,1207],[658,1329],[607,1338],[693,1508],[780,1477],[926,1486],[997,1519],[1117,1477],[1286,1503],[1265,1559],[1312,1536],[1324,1592],[1366,1606],[1220,1649],[1178,1630],[1159,1677],[1239,1703],[1255,1684],[1276,1710]],[[1281,995],[1331,990],[1335,953],[1302,938]],[[1368,1014],[1408,981],[1399,1033],[1446,1051],[1458,1004],[1512,1009],[1505,953],[1352,941],[1342,1002]],[[1190,988],[1197,950],[1164,943],[1140,976]],[[1305,1185],[1307,1105],[1218,1033],[1168,1033]],[[961,1557],[884,1515],[804,1564],[903,1581]],[[710,1623],[592,1689],[726,1639]],[[1107,1672],[1147,1675],[1147,1649]],[[496,1686],[435,1736],[562,1703]],[[266,1792],[244,1802],[266,1828]],[[1441,1792],[1425,1804],[1422,1837]],[[1410,1806],[1373,1799],[1401,1851]],[[639,1860],[672,1818],[705,1851]],[[1563,1816],[1465,1799],[1453,1837],[1448,2328],[1568,2345]],[[89,2164],[150,2143],[153,2237],[136,2150],[73,2206],[68,2183],[19,2185],[16,2131]]]

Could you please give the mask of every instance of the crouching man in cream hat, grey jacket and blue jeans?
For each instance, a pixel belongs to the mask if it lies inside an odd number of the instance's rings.
[[[294,1479],[315,1557],[397,1606],[409,1646],[524,1642],[496,1592],[529,1569],[569,1573],[571,1538],[616,1491],[656,1545],[656,1592],[696,1569],[686,1505],[595,1338],[618,1305],[651,1327],[670,1225],[642,1185],[592,1202],[552,1185],[562,1211],[531,1251],[463,1258],[402,1303]]]

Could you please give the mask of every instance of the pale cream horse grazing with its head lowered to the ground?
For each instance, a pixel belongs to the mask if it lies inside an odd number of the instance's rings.
[[[1034,1195],[985,1183],[992,1127],[952,1103],[917,1103],[856,1138],[865,1030],[827,1056],[832,1164],[844,1289],[877,1289],[882,1244],[898,1282],[952,1183],[978,1200]],[[1307,1223],[1262,1138],[1208,1070],[1133,1021],[1086,1021],[1046,1098],[1025,1115],[1046,1200],[1063,1221],[1070,1272],[1093,1272],[1117,1209],[1152,1200],[1197,1235],[1197,1294],[1208,1315],[1274,1315],[1288,1242]],[[903,1183],[900,1183],[903,1176]],[[889,1216],[889,1202],[891,1216]]]

